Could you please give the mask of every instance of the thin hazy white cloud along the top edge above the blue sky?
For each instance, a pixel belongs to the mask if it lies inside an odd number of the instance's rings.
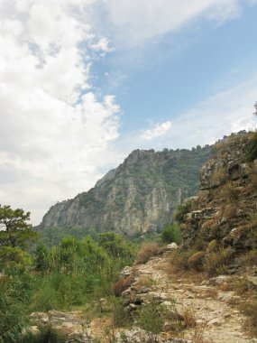
[[[118,44],[132,47],[151,42],[198,17],[225,22],[252,0],[102,0]],[[105,13],[106,13],[105,12]]]

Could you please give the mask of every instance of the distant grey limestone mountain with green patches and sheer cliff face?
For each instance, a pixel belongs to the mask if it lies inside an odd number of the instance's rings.
[[[50,208],[40,230],[80,227],[87,232],[133,235],[170,222],[181,200],[198,189],[198,171],[212,148],[133,151],[96,186]]]

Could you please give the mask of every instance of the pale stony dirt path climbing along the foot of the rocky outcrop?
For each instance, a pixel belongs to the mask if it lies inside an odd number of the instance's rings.
[[[234,292],[220,291],[216,286],[207,285],[201,280],[192,282],[190,277],[170,273],[170,253],[154,257],[147,264],[139,265],[137,269],[137,276],[131,288],[135,290],[143,277],[150,278],[153,285],[141,297],[159,297],[167,304],[173,300],[179,312],[187,309],[193,311],[197,328],[203,330],[205,341],[257,342],[257,338],[249,338],[244,332],[245,317],[235,306],[239,297]],[[195,332],[196,329],[188,329],[184,338],[192,339]]]

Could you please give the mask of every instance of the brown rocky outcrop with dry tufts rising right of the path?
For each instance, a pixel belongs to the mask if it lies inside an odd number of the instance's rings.
[[[201,169],[198,197],[182,205],[184,246],[202,249],[216,240],[238,253],[257,247],[257,160],[247,159],[251,142],[252,134],[241,133],[216,144],[215,157]]]

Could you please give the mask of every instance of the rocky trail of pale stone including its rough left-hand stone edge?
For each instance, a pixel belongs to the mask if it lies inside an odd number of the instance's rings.
[[[185,317],[188,311],[195,316],[196,327],[183,332],[183,338],[196,342],[213,343],[246,343],[257,342],[257,338],[249,338],[243,328],[246,318],[238,310],[240,296],[232,291],[224,291],[227,283],[235,276],[218,276],[202,280],[202,275],[190,273],[170,273],[170,255],[151,258],[136,268],[126,268],[124,275],[136,274],[133,284],[123,292],[122,296],[131,299],[128,306],[139,300],[158,299],[162,304],[170,306],[175,303],[176,310]],[[151,287],[139,287],[140,279],[150,278]],[[257,277],[249,277],[257,283]],[[134,299],[134,301],[133,301]],[[166,334],[169,338],[169,330]],[[168,341],[168,340],[167,340]],[[170,340],[169,340],[170,341]],[[172,341],[172,340],[171,340]]]

